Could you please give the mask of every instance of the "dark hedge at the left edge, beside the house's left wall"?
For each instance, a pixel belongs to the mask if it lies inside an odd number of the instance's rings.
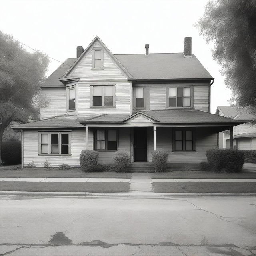
[[[18,140],[3,141],[1,157],[2,157],[2,162],[4,164],[20,164],[21,163],[21,142]]]

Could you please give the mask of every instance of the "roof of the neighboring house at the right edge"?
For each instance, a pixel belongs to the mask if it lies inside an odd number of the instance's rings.
[[[215,114],[222,112],[222,114],[228,118],[236,120],[246,120],[251,121],[256,118],[256,116],[246,109],[241,109],[236,106],[218,106]]]

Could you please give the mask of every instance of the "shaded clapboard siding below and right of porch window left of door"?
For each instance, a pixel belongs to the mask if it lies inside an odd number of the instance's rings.
[[[113,158],[117,152],[126,152],[130,156],[130,127],[120,128],[118,130],[118,150],[117,151],[99,151],[99,163],[113,163]]]

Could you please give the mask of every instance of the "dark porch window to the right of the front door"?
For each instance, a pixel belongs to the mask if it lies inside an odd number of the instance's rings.
[[[194,130],[174,130],[172,145],[173,151],[195,151]]]

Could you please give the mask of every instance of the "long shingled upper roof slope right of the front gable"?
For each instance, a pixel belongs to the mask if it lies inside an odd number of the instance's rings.
[[[192,54],[183,53],[115,54],[136,79],[213,79]]]

